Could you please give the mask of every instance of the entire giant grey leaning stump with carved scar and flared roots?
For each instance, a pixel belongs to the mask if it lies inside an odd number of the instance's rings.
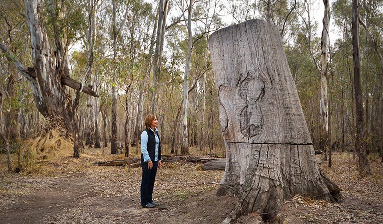
[[[284,199],[334,201],[340,189],[321,168],[275,25],[249,20],[209,38],[220,102],[226,170],[217,195],[237,195],[223,221],[257,212],[272,219]]]

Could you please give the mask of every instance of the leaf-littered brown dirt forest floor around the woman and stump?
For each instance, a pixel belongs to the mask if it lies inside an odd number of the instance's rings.
[[[44,162],[32,174],[8,173],[1,159],[0,224],[219,224],[236,204],[216,197],[223,171],[203,171],[183,161],[163,163],[158,170],[154,209],[140,207],[141,168],[101,167],[95,161],[121,159],[86,149]],[[275,223],[383,223],[383,165],[372,161],[374,175],[358,178],[352,154],[333,156],[325,172],[343,189],[336,204],[295,196],[284,203]],[[249,214],[238,223],[256,223]]]

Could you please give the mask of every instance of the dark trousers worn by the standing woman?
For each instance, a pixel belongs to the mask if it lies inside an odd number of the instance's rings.
[[[146,205],[153,201],[154,181],[158,168],[158,161],[153,162],[152,169],[149,170],[147,162],[141,162],[142,180],[141,180],[141,205]]]

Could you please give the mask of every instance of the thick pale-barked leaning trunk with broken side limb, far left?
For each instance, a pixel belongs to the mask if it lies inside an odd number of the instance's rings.
[[[54,55],[48,42],[48,36],[42,23],[41,8],[37,0],[25,0],[25,15],[28,22],[31,55],[36,77],[29,78],[32,84],[33,97],[39,112],[44,116],[62,117],[70,131],[72,110],[67,101],[60,76],[57,75]],[[58,47],[56,47],[58,49]],[[60,73],[59,73],[60,74]]]

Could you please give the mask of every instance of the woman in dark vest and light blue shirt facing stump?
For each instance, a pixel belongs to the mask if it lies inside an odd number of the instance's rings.
[[[157,168],[161,167],[161,141],[157,130],[158,120],[154,114],[145,117],[145,130],[141,133],[141,206],[153,208],[158,205],[152,199]]]

